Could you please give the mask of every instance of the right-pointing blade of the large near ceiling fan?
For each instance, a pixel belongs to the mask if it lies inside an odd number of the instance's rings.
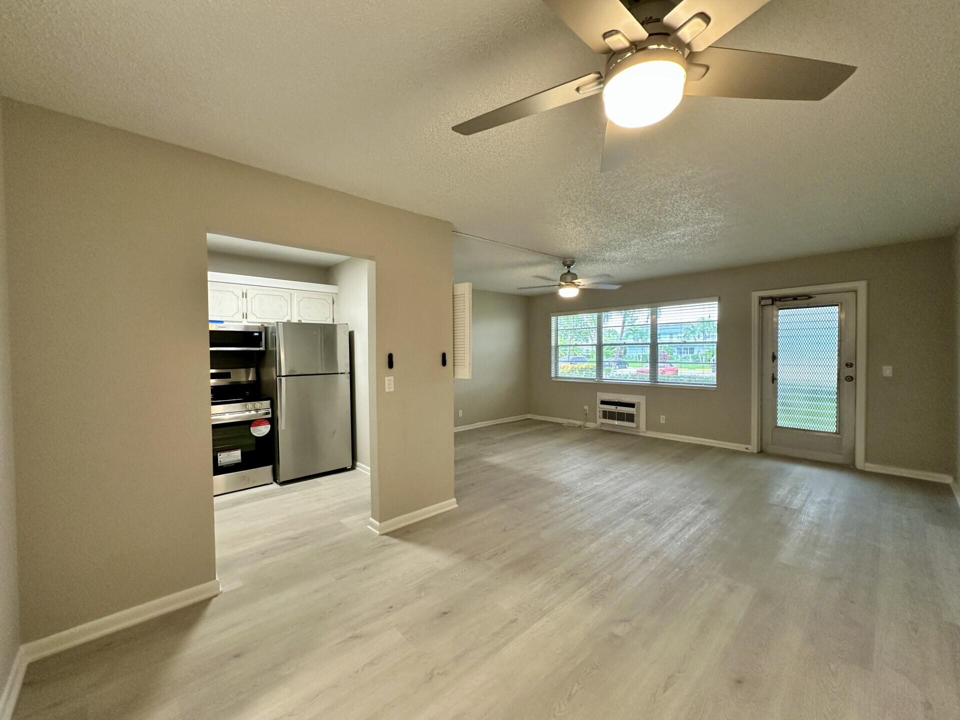
[[[856,68],[839,62],[707,48],[690,53],[688,62],[708,67],[700,80],[688,80],[685,95],[757,100],[823,100]]]

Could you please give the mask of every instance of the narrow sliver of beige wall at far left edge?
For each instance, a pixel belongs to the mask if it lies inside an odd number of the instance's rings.
[[[0,136],[3,118],[0,117]],[[13,480],[11,412],[11,333],[7,295],[7,231],[4,161],[0,147],[0,692],[20,647],[20,608],[16,573],[16,491]]]

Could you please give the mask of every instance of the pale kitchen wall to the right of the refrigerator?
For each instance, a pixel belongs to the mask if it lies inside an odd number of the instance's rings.
[[[370,467],[370,308],[374,306],[375,265],[351,257],[329,268],[329,282],[336,285],[337,322],[349,325],[353,348],[350,378],[353,387],[353,457]],[[375,382],[375,379],[373,380]]]

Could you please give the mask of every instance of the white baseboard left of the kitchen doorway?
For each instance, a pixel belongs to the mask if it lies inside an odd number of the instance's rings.
[[[188,605],[199,603],[203,600],[209,600],[220,594],[220,581],[211,580],[203,585],[193,588],[186,588],[180,592],[174,592],[171,595],[158,597],[143,605],[137,605],[127,610],[114,612],[107,617],[101,617],[97,620],[85,622],[75,628],[64,630],[60,633],[54,633],[51,636],[41,637],[38,640],[25,643],[23,651],[27,662],[40,660],[63,650],[67,650],[77,645],[83,645],[84,642],[95,640],[98,637],[116,633],[119,630],[126,630],[133,625],[152,620],[159,615],[167,612],[174,612],[185,608]]]

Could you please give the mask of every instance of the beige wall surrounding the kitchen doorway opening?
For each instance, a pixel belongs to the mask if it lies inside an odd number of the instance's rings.
[[[2,109],[24,640],[215,576],[207,232],[376,260],[372,516],[453,496],[448,223]]]

